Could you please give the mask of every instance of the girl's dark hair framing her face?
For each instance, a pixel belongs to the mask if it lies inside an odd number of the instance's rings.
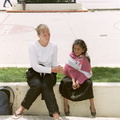
[[[84,52],[82,54],[86,54],[86,52],[87,52],[87,45],[86,45],[86,43],[82,39],[77,39],[77,40],[74,41],[74,43],[72,45],[72,52],[74,51],[74,46],[75,45],[79,45],[80,47],[82,47],[84,49]]]

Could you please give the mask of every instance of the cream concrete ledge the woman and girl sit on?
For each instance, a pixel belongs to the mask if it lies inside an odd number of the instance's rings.
[[[13,111],[15,111],[23,100],[26,91],[29,89],[27,83],[0,83],[0,86],[10,86],[15,92]],[[63,111],[63,99],[59,94],[59,83],[54,87],[55,95],[59,105],[61,115]],[[93,83],[94,100],[97,110],[97,117],[120,117],[120,83]],[[72,116],[90,117],[89,100],[81,102],[69,101]],[[41,95],[33,103],[31,108],[24,111],[29,115],[48,115],[48,110]]]

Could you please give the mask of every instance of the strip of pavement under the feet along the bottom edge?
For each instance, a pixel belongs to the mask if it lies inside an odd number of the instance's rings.
[[[63,120],[120,120],[120,118],[109,118],[109,117],[96,117],[96,118],[89,118],[89,117],[74,117],[74,116],[61,116]],[[0,120],[15,120],[11,116],[0,116]],[[49,116],[22,116],[17,120],[54,120],[52,117]]]

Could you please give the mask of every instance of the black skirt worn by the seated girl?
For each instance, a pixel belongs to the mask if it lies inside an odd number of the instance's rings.
[[[82,101],[92,99],[93,96],[93,83],[91,79],[85,80],[83,84],[76,90],[72,88],[72,79],[64,77],[59,86],[60,94],[71,101]]]

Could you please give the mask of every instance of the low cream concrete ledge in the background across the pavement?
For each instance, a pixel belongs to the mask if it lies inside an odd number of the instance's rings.
[[[7,12],[11,11],[21,11],[21,12],[29,12],[29,11],[40,11],[40,12],[86,12],[87,9],[83,8],[81,4],[76,3],[54,3],[54,4],[26,4],[26,10],[22,10],[21,4],[14,4],[12,6],[12,10],[8,10]]]

